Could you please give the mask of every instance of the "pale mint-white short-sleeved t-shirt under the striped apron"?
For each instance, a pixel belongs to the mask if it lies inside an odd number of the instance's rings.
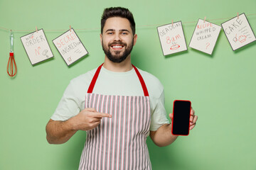
[[[85,109],[85,94],[90,86],[96,69],[76,77],[70,81],[58,107],[51,117],[52,120],[68,120]],[[149,130],[155,131],[161,125],[169,123],[164,108],[164,87],[159,79],[148,72],[138,69],[149,91],[151,108],[151,124]],[[142,85],[134,69],[128,72],[111,72],[102,67],[97,77],[93,94],[144,96]]]

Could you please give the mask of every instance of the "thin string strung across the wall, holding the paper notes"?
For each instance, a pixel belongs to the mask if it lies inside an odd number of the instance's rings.
[[[245,14],[246,16],[256,16],[256,13],[250,13],[250,14]],[[227,18],[216,18],[216,19],[206,19],[206,21],[220,21],[220,20],[225,20],[225,19],[230,19],[230,18],[234,18],[233,17],[227,17]],[[186,23],[197,23],[198,21],[187,21],[187,22],[183,22],[183,24],[186,24]],[[166,23],[164,23],[166,24]],[[153,27],[153,26],[162,26],[164,24],[154,24],[154,25],[142,25],[142,26],[137,26],[137,27]],[[32,32],[32,31],[35,31],[36,29],[34,30],[16,30],[16,29],[10,29],[10,28],[4,28],[4,27],[1,27],[0,26],[0,29],[1,30],[8,30],[8,31],[13,31],[13,32]],[[68,29],[65,29],[65,30],[68,30]],[[50,32],[50,31],[65,31],[65,30],[44,30],[45,32]],[[100,28],[76,28],[75,30],[100,30]]]

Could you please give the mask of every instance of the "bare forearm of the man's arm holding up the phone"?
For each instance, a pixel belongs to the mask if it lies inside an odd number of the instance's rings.
[[[166,147],[176,140],[177,135],[172,135],[171,124],[162,125],[158,130],[151,132],[153,142],[159,147]]]

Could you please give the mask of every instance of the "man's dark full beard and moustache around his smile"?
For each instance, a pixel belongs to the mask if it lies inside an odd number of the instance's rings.
[[[122,46],[124,46],[125,50],[123,53],[119,50],[113,51],[112,53],[114,53],[114,54],[112,54],[110,52],[110,48],[112,45],[122,45]],[[120,62],[124,61],[128,57],[128,55],[132,52],[132,47],[133,47],[133,41],[132,41],[131,45],[128,45],[128,46],[126,43],[120,42],[120,41],[112,42],[108,46],[105,46],[102,41],[102,49],[105,52],[105,55],[107,55],[107,58],[112,62],[120,63]]]

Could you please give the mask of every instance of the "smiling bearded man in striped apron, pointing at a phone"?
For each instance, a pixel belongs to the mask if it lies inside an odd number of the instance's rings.
[[[159,147],[177,137],[166,118],[164,88],[131,63],[137,35],[127,8],[105,9],[100,40],[104,64],[70,81],[46,125],[46,138],[62,144],[85,130],[79,169],[151,169],[146,137]],[[190,129],[196,120],[191,109]]]

